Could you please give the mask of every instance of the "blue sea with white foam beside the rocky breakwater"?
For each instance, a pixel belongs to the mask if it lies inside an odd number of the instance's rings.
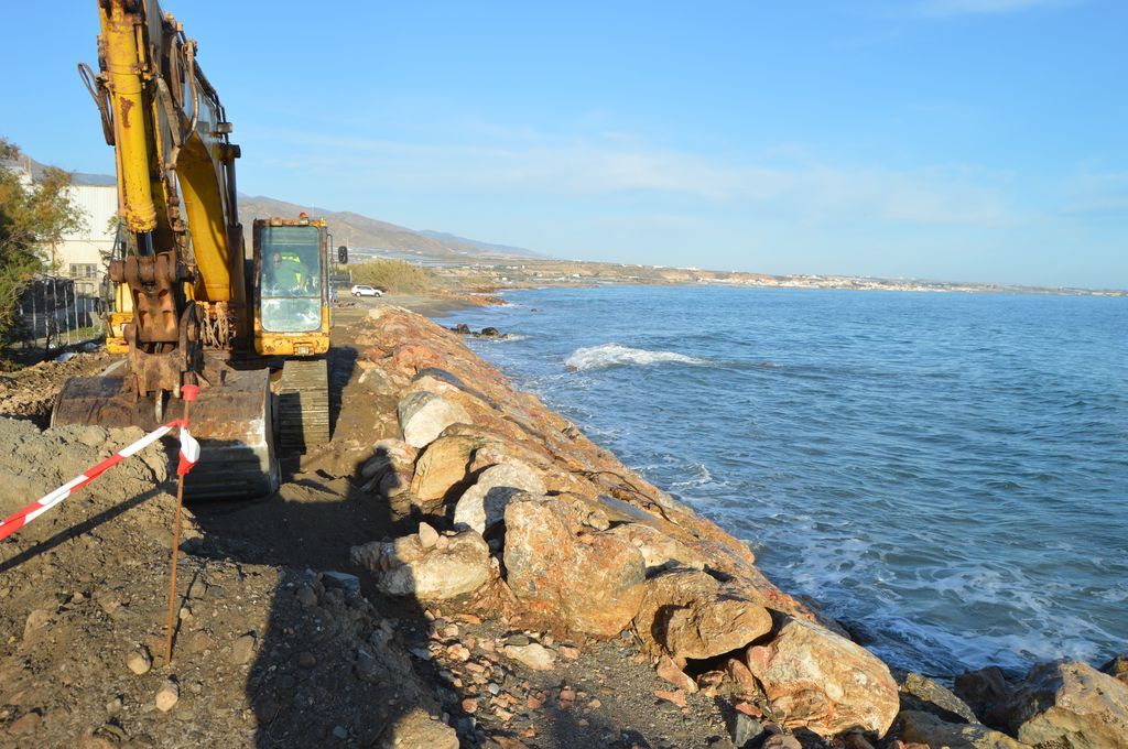
[[[1128,299],[503,298],[441,321],[896,668],[1128,652]]]

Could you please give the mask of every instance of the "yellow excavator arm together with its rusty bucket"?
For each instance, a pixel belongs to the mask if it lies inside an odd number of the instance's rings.
[[[192,432],[204,452],[185,490],[195,496],[274,491],[270,373],[230,365],[231,353],[246,351],[254,335],[231,123],[196,64],[196,43],[157,0],[97,6],[99,72],[79,70],[117,168],[127,241],[109,267],[118,305],[107,343],[117,343],[112,351],[127,347],[129,360],[124,372],[69,380],[52,424],[153,429],[165,421],[169,396],[200,384]]]

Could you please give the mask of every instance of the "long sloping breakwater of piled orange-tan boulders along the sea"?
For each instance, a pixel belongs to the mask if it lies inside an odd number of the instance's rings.
[[[402,434],[358,473],[420,523],[352,549],[381,590],[578,642],[629,636],[667,698],[731,696],[738,746],[761,730],[779,746],[887,734],[900,710],[889,669],[773,585],[746,544],[425,318],[376,309],[355,340]]]

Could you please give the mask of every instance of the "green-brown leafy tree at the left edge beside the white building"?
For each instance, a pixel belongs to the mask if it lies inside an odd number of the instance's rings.
[[[0,346],[16,332],[24,290],[36,273],[49,270],[50,247],[86,226],[67,190],[70,173],[47,167],[29,184],[12,166],[18,158],[19,149],[0,136]]]

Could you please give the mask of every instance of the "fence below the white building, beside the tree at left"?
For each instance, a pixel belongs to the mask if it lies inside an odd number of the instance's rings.
[[[38,276],[20,298],[14,342],[28,354],[96,342],[105,333],[105,305],[90,284],[73,279]]]

